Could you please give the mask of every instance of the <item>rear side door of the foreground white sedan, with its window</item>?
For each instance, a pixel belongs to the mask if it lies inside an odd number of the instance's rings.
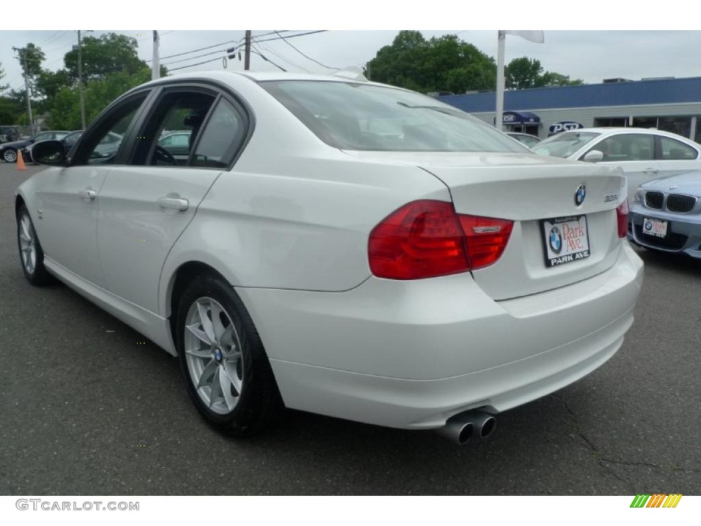
[[[247,133],[247,116],[217,91],[164,88],[139,124],[130,166],[115,166],[100,191],[97,237],[107,288],[158,313],[158,282],[172,245]],[[163,126],[191,130],[176,159],[155,140]]]

